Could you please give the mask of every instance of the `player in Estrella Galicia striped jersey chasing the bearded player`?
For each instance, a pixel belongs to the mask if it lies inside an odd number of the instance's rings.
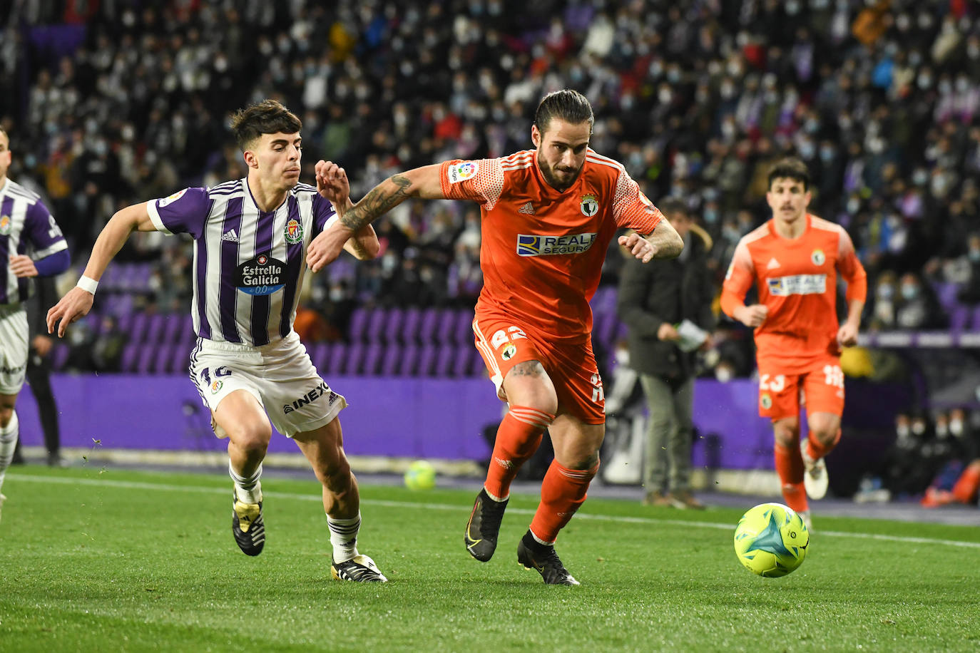
[[[231,128],[248,175],[117,212],[96,240],[79,287],[48,311],[48,331],[57,325],[63,336],[89,311],[97,280],[133,229],[190,234],[198,335],[190,374],[216,435],[228,439],[235,542],[248,555],[265,546],[259,478],[271,420],[296,442],[323,486],[333,578],[384,582],[357,549],[360,497],[337,417],[347,402],[320,379],[293,331],[307,246],[353,206],[346,173],[335,163],[318,163],[327,173],[316,187],[299,182],[301,126],[274,100],[238,112]],[[375,257],[378,247],[369,225],[345,245],[358,258]]]

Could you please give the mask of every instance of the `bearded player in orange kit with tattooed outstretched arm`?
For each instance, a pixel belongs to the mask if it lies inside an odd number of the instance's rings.
[[[493,555],[511,482],[548,429],[555,460],[530,528],[517,545],[517,561],[551,584],[578,584],[554,544],[585,500],[605,434],[589,299],[608,246],[617,229],[628,227],[649,234],[618,239],[643,262],[676,257],[683,248],[622,165],[589,149],[593,121],[581,94],[551,93],[538,105],[531,127],[535,150],[393,175],[320,234],[308,258],[318,270],[339,255],[357,225],[412,197],[481,206],[484,287],[473,333],[497,395],[510,407],[466,525],[466,549],[481,561]]]

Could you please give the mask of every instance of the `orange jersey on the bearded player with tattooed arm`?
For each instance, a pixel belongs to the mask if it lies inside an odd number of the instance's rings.
[[[616,229],[649,234],[662,217],[622,165],[591,149],[564,193],[545,181],[536,150],[448,161],[439,172],[445,197],[480,204],[477,310],[501,311],[553,339],[591,333],[589,300]]]

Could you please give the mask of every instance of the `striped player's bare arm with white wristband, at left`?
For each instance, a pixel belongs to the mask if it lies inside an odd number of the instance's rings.
[[[88,258],[85,271],[78,285],[66,293],[59,303],[48,310],[48,333],[53,333],[58,326],[58,337],[65,335],[65,329],[72,322],[84,317],[92,308],[95,298],[95,287],[102,274],[106,271],[109,261],[123,247],[126,239],[133,230],[154,231],[156,227],[150,219],[146,202],[134,204],[119,210],[106,223],[92,247],[92,256]]]

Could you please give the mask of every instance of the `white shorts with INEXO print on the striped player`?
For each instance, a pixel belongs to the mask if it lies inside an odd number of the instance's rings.
[[[262,347],[199,338],[190,355],[190,376],[212,411],[230,393],[248,391],[275,430],[289,438],[329,424],[347,407],[347,399],[319,377],[295,331]],[[222,429],[216,435],[227,436]]]

